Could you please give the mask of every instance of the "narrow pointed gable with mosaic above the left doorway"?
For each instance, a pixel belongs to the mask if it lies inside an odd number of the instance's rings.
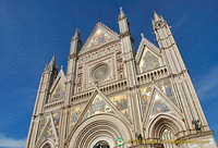
[[[43,130],[41,134],[39,135],[39,138],[37,140],[37,145],[43,144],[47,139],[51,139],[56,143],[58,143],[58,130],[56,128],[56,122],[53,119],[53,115],[50,113],[49,120],[45,125],[45,128]]]

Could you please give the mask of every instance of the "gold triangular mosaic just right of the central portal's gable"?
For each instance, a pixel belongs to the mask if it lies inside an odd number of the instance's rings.
[[[128,98],[126,95],[122,94],[116,97],[111,97],[110,101],[117,107],[117,109],[128,119],[130,119],[128,109]]]

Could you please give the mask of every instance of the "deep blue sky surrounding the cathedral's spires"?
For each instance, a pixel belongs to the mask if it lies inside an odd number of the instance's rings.
[[[141,33],[157,45],[154,10],[171,26],[202,108],[218,140],[217,0],[0,0],[0,148],[22,148],[46,63],[66,67],[75,28],[85,42],[98,21],[119,33],[122,7],[134,49]]]

